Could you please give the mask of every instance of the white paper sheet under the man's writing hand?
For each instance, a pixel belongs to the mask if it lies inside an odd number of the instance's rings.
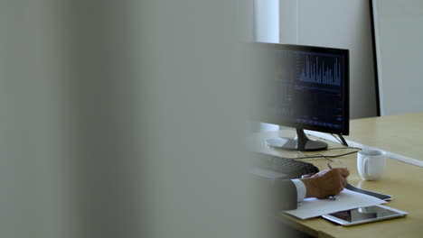
[[[286,213],[301,219],[307,219],[357,207],[374,206],[384,203],[386,201],[377,197],[371,197],[344,188],[336,200],[305,198],[301,206],[298,206],[295,210],[286,211]]]

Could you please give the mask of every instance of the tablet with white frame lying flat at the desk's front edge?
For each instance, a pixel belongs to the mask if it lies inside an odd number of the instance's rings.
[[[322,215],[322,217],[336,224],[354,225],[371,223],[404,215],[407,215],[404,211],[389,206],[377,205]]]

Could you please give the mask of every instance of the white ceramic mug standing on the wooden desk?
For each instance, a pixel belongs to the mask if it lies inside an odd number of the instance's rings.
[[[383,175],[386,164],[386,152],[364,150],[357,154],[357,169],[365,180],[377,180]]]

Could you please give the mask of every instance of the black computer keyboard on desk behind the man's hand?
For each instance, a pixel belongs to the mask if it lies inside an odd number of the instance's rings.
[[[302,175],[317,173],[319,171],[315,165],[305,161],[278,157],[261,152],[251,153],[253,166],[286,174],[286,178],[301,178]]]

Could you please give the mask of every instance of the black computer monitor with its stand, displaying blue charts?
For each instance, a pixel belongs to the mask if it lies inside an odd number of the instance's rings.
[[[349,134],[349,51],[334,48],[257,43],[261,61],[259,121],[296,128],[296,138],[273,138],[268,145],[319,151],[325,142],[309,140],[304,129]],[[256,88],[257,89],[257,88]]]

